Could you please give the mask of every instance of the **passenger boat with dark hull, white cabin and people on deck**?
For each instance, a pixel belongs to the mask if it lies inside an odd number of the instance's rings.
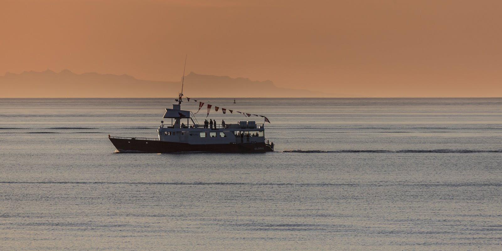
[[[166,108],[157,129],[158,138],[112,137],[108,139],[118,152],[144,153],[265,153],[274,151],[274,143],[265,138],[265,124],[256,121],[198,123],[194,113],[181,109],[183,94],[173,108]],[[164,123],[164,119],[171,119]],[[194,120],[195,119],[195,120]],[[186,122],[186,123],[185,123]]]

